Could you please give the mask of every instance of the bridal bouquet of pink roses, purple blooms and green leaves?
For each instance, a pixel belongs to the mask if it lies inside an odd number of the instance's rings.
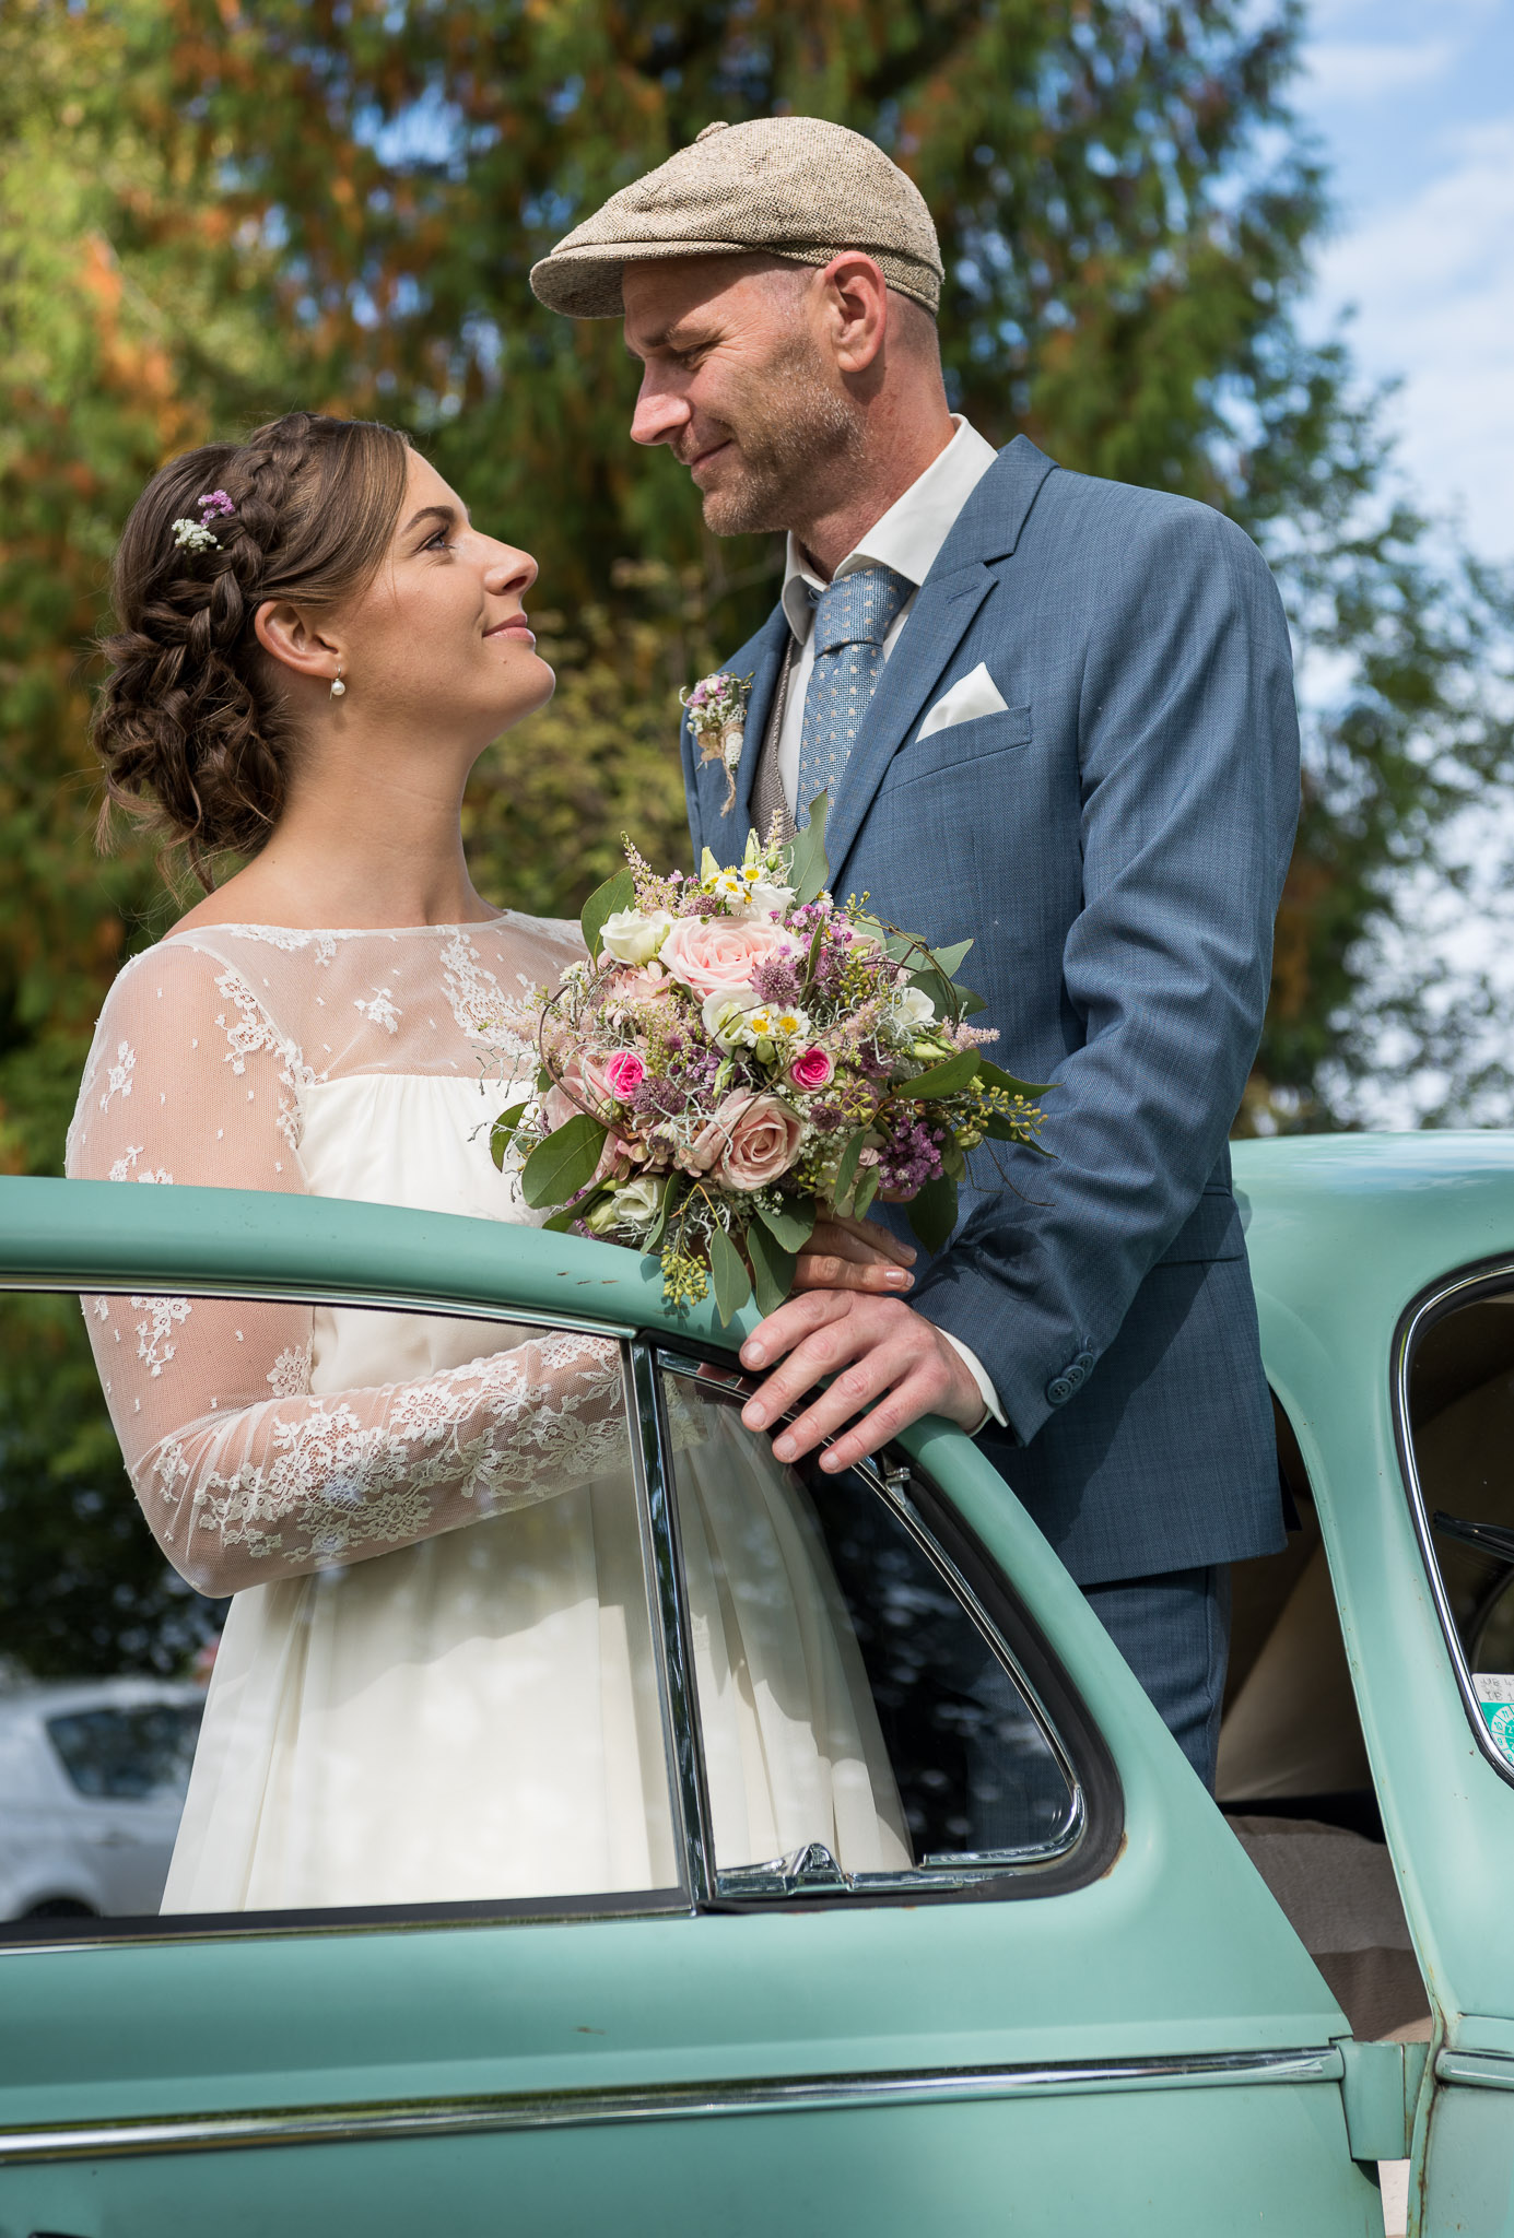
[[[815,1220],[905,1202],[927,1249],[956,1226],[965,1153],[1039,1148],[1044,1092],[981,1054],[997,1041],[932,951],[824,891],[824,797],[788,846],[589,897],[589,960],[531,998],[540,1072],[493,1126],[495,1164],[576,1229],[654,1253],[670,1303],[714,1282],[723,1320],[773,1311]],[[865,897],[862,897],[865,900]]]

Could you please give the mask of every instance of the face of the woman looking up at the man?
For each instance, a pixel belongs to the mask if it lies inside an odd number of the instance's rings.
[[[410,452],[387,557],[331,618],[347,709],[488,745],[553,694],[526,624],[533,582],[531,553],[475,528],[437,468]]]

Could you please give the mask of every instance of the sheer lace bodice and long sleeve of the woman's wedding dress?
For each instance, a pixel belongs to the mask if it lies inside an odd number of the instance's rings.
[[[67,1170],[526,1222],[488,1121],[531,1068],[520,996],[578,953],[576,927],[517,915],[172,933],[110,991]],[[405,1108],[428,1123],[405,1128]],[[405,1144],[423,1155],[405,1164]],[[394,1381],[363,1370],[417,1356],[405,1316],[374,1345],[376,1316],[307,1305],[92,1298],[87,1314],[137,1497],[206,1593],[417,1544],[623,1457],[602,1338],[432,1318],[432,1372]]]

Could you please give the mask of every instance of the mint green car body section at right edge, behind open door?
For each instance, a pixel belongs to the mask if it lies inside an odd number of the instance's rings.
[[[1409,2229],[1514,2234],[1514,1170],[1507,1137],[1247,1146],[1263,1350],[1315,1491],[1431,2005]]]

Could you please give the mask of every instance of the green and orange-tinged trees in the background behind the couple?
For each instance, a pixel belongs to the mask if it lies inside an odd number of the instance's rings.
[[[1310,725],[1243,1123],[1351,1112],[1380,1047],[1373,944],[1411,931],[1411,873],[1440,877],[1456,817],[1510,779],[1510,591],[1380,495],[1371,405],[1295,331],[1324,219],[1286,105],[1297,34],[1297,0],[13,0],[0,1168],[58,1170],[103,991],[175,913],[139,839],[90,846],[87,649],[130,501],[213,432],[296,403],[392,419],[538,555],[560,683],[470,788],[488,893],[573,918],[620,833],[688,864],[676,689],[761,618],[779,553],[705,535],[688,474],[627,439],[616,325],[553,318],[526,273],[712,116],[779,107],[873,134],[918,179],[954,403],[999,443],[1026,430],[1232,513],[1344,678]],[[1422,989],[1389,1007],[1429,1050]],[[1451,1112],[1467,1043],[1436,1034]]]

